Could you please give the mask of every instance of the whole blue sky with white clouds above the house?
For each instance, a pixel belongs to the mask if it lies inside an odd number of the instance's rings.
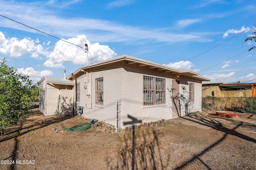
[[[130,55],[256,82],[255,0],[0,0],[0,15],[0,57],[34,82],[85,66],[85,43],[89,64]]]

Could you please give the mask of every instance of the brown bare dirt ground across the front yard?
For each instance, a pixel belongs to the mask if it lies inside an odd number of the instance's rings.
[[[97,122],[98,127],[71,132],[63,128],[90,119],[34,112],[0,136],[0,169],[256,169],[256,115],[226,118],[207,111],[189,116],[196,120],[192,123],[215,126],[203,129],[172,120],[136,126],[132,162],[132,128],[115,133],[113,126]]]

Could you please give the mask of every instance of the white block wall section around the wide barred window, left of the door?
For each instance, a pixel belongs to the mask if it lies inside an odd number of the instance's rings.
[[[160,119],[171,119],[172,109],[167,86],[166,104],[161,106],[143,106],[143,75],[147,74],[136,73],[136,71],[141,72],[141,70],[136,69],[134,69],[134,72],[124,72],[123,122],[132,121],[132,119],[128,118],[128,115],[141,120],[142,123],[158,121]],[[171,80],[166,78],[166,84],[170,83]]]

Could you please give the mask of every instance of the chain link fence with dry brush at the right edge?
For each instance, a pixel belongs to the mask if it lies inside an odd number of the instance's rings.
[[[202,98],[202,109],[256,114],[256,98]]]

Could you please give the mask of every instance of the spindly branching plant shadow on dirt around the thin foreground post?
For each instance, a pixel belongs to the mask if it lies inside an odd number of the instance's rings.
[[[165,169],[166,160],[162,158],[158,132],[154,128],[135,129],[135,163],[134,169]],[[120,137],[117,160],[108,161],[108,169],[128,170],[132,167],[132,131]],[[133,169],[133,168],[132,168]]]

